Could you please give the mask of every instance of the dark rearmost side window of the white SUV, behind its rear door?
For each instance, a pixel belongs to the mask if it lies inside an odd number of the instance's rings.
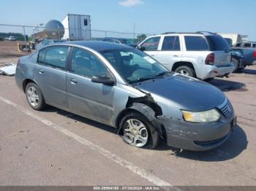
[[[184,36],[187,51],[209,50],[206,39],[203,36]]]

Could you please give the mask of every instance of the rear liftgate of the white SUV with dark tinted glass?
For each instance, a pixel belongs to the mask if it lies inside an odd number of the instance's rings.
[[[225,66],[231,63],[231,52],[230,47],[219,35],[206,36],[210,50],[214,52],[214,65]]]

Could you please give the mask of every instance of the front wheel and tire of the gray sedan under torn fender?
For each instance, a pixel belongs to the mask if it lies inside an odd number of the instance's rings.
[[[129,112],[121,119],[119,127],[123,132],[122,139],[125,143],[145,149],[157,147],[158,131],[143,114]],[[135,139],[136,137],[138,139]]]

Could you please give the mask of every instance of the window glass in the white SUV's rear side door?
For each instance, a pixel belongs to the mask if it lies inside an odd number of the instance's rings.
[[[178,36],[165,36],[164,41],[162,42],[162,50],[170,50],[170,51],[181,50],[181,46],[179,43],[179,37]]]

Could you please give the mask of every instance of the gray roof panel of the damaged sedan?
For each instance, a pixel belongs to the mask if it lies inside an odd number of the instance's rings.
[[[61,45],[63,44],[67,44],[71,46],[89,47],[92,50],[96,50],[97,52],[104,51],[104,50],[132,48],[125,44],[117,44],[117,43],[103,42],[103,41],[67,41],[67,42],[61,43]]]

